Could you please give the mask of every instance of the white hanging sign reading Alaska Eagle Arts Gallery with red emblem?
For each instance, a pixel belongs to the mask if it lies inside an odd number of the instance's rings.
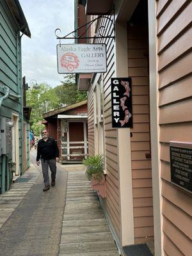
[[[104,73],[107,71],[105,44],[58,44],[58,73]]]

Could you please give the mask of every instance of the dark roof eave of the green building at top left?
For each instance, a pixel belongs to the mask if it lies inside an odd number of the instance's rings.
[[[6,0],[10,11],[12,12],[17,24],[19,26],[20,32],[24,33],[26,36],[31,38],[31,32],[29,30],[28,22],[24,13],[22,12],[22,8],[20,6],[19,0]]]

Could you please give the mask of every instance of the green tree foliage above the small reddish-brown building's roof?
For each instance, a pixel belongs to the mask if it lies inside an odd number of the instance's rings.
[[[38,87],[31,88],[26,93],[27,106],[32,108],[29,123],[35,135],[39,135],[40,130],[44,129],[44,125],[40,125],[44,120],[44,113],[86,99],[86,92],[77,90],[74,75],[66,76],[55,88],[46,83],[38,84]]]

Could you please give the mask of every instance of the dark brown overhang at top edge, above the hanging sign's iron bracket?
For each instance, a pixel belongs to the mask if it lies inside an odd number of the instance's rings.
[[[86,15],[104,15],[113,9],[113,0],[87,0]]]

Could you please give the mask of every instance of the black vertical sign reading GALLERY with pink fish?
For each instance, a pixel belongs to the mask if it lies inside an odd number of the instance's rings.
[[[132,127],[131,77],[111,78],[112,127]]]

